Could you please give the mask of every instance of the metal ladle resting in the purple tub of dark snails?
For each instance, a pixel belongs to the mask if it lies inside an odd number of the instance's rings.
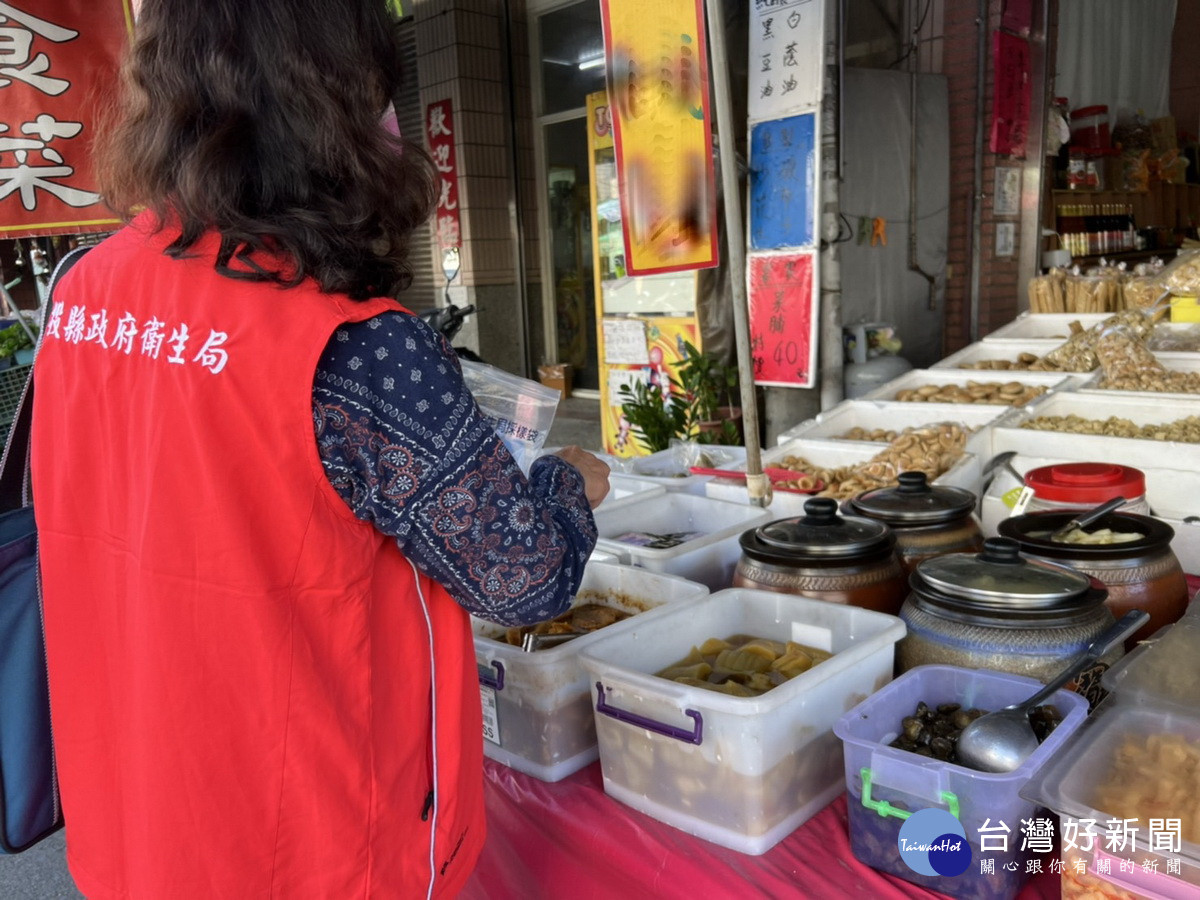
[[[1040,706],[1050,695],[1108,653],[1110,647],[1123,641],[1148,620],[1150,613],[1145,610],[1130,610],[1032,697],[997,709],[995,713],[980,715],[967,725],[959,734],[956,748],[959,761],[980,772],[1012,772],[1019,768],[1030,754],[1038,749],[1037,734],[1030,725],[1030,710]]]

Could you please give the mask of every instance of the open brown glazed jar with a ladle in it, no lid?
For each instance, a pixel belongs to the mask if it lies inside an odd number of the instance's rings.
[[[1027,557],[1069,565],[1102,582],[1115,618],[1129,610],[1148,612],[1150,622],[1126,641],[1126,649],[1176,622],[1188,606],[1188,581],[1171,550],[1175,529],[1152,516],[1110,512],[1087,530],[1109,528],[1141,534],[1142,539],[1121,544],[1060,544],[1049,539],[1076,515],[1078,510],[1013,516],[1000,523],[1000,533],[1015,540]]]

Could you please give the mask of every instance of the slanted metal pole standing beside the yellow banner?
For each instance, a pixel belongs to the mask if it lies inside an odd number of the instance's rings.
[[[738,186],[737,142],[733,137],[733,103],[730,97],[728,54],[725,50],[725,18],[721,0],[706,0],[708,52],[713,98],[716,101],[716,133],[721,156],[721,194],[725,199],[725,233],[728,236],[730,289],[733,294],[733,334],[737,338],[742,385],[742,430],[746,442],[746,491],[758,506],[770,503],[770,482],[762,474],[758,445],[758,406],[754,390],[754,356],[750,353],[750,311],[746,306],[745,233],[742,228],[742,192]]]

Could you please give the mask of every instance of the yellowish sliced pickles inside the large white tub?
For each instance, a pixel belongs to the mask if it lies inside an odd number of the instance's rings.
[[[794,641],[748,635],[712,637],[655,676],[736,697],[757,697],[832,655]]]

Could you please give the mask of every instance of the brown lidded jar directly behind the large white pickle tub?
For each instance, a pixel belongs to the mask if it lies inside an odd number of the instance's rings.
[[[806,500],[804,512],[743,532],[733,586],[895,616],[906,588],[892,529],[839,516],[838,502],[827,497]]]

